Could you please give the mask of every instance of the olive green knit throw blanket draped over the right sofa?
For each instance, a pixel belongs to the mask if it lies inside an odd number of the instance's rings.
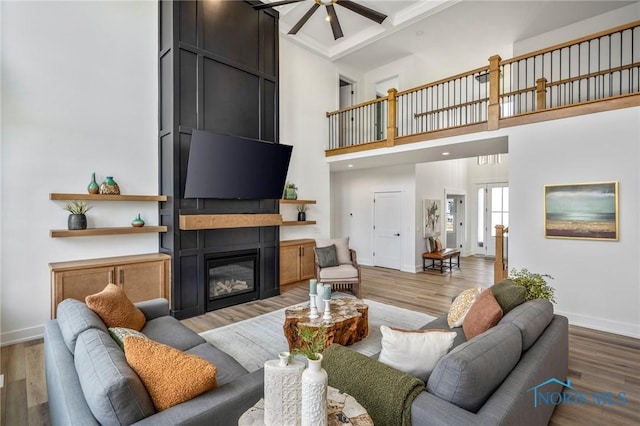
[[[422,380],[338,344],[324,351],[322,367],[329,386],[354,397],[373,424],[411,426],[411,403],[424,390]]]

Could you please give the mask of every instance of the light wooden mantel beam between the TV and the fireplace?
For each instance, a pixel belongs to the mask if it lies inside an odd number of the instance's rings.
[[[282,216],[279,213],[180,215],[180,229],[183,231],[280,225],[282,225]]]

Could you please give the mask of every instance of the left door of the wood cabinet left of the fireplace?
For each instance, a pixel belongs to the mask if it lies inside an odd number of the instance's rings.
[[[51,317],[56,317],[58,303],[64,299],[84,302],[85,297],[104,290],[107,284],[114,281],[113,273],[112,266],[54,272]]]

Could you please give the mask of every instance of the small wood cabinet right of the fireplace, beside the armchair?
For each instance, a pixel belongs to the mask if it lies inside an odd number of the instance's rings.
[[[280,241],[280,285],[313,278],[315,240]]]

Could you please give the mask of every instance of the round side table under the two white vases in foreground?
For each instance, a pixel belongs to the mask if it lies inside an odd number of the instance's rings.
[[[327,388],[327,417],[329,426],[373,426],[367,410],[351,395],[336,388]],[[264,399],[242,414],[238,426],[264,426]]]

